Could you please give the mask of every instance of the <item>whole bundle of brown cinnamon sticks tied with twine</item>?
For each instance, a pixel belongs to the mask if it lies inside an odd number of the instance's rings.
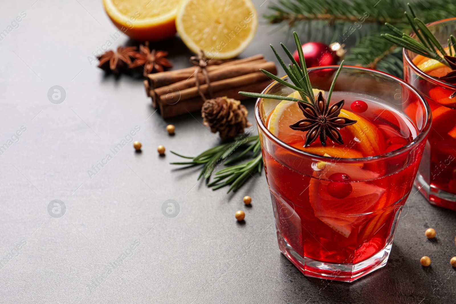
[[[271,79],[259,69],[277,74],[275,63],[266,62],[261,54],[238,60],[209,60],[206,71],[212,98],[227,96],[241,100],[248,97],[239,95],[239,91],[261,93]],[[147,75],[144,81],[146,94],[152,98],[152,105],[160,110],[163,118],[201,110],[203,100],[196,86],[196,77],[199,90],[207,98],[209,90],[206,78],[198,71],[199,67],[195,66]]]

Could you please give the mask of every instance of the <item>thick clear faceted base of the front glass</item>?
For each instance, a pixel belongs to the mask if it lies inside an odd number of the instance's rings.
[[[388,262],[389,252],[391,251],[391,246],[393,244],[393,238],[391,238],[382,250],[360,263],[332,264],[302,257],[290,246],[280,232],[277,232],[277,238],[279,240],[280,252],[282,252],[305,276],[343,282],[353,282],[354,280],[385,266],[386,262]]]

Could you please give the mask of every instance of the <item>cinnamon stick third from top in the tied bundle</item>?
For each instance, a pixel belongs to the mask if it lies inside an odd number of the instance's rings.
[[[223,79],[215,82],[211,82],[211,89],[212,93],[216,93],[222,90],[228,90],[232,88],[239,88],[244,85],[256,83],[256,82],[264,82],[269,80],[269,77],[264,75],[262,72],[254,72],[250,74],[245,74],[238,77]],[[203,84],[200,86],[201,92],[207,93],[207,84]],[[240,90],[239,90],[240,91]],[[179,90],[176,92],[167,93],[160,96],[158,103],[175,103],[177,101],[186,100],[189,98],[199,96],[198,90],[196,87],[187,88],[183,90]],[[230,96],[231,98],[231,96]],[[158,101],[158,99],[157,99]]]

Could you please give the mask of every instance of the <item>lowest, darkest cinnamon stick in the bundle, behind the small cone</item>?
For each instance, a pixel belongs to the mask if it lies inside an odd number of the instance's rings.
[[[255,82],[255,83],[244,85],[244,86],[241,86],[238,88],[221,90],[221,91],[218,91],[217,93],[214,93],[214,95],[215,95],[214,98],[228,96],[229,98],[235,98],[237,100],[244,100],[249,97],[240,95],[238,93],[239,91],[261,93],[264,90],[264,88],[266,88],[270,83],[271,83],[271,81],[268,79],[267,81]],[[204,102],[199,97],[190,98],[187,100],[180,100],[179,102],[174,103],[174,104],[160,103],[160,114],[161,114],[161,117],[163,117],[163,118],[170,118],[170,117],[178,116],[181,114],[187,114],[188,112],[201,111],[201,107],[202,107],[203,103]]]

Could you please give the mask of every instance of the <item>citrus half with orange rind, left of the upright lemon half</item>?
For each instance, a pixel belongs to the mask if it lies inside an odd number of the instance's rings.
[[[181,0],[103,0],[104,10],[119,30],[136,40],[157,41],[176,34]]]

